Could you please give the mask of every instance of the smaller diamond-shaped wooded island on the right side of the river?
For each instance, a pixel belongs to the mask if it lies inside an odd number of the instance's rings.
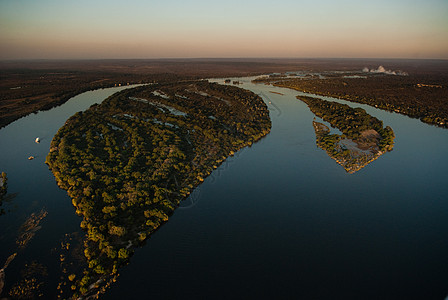
[[[313,121],[316,143],[348,173],[361,170],[387,151],[392,151],[394,132],[362,108],[314,97],[297,96],[310,110],[342,134],[331,133],[325,124]]]

